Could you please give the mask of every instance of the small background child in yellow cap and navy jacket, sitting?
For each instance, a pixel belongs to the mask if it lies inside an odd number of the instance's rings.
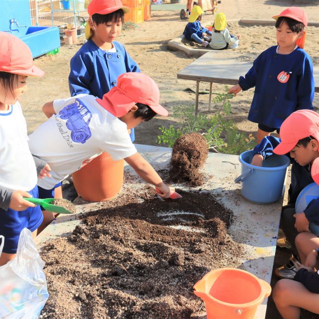
[[[195,41],[206,47],[209,42],[207,42],[204,37],[211,35],[211,32],[200,25],[203,13],[204,11],[199,5],[193,6],[183,34],[187,40]]]

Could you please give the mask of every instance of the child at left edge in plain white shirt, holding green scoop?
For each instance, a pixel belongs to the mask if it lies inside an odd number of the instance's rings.
[[[28,148],[27,130],[19,97],[26,90],[28,76],[43,76],[33,65],[28,46],[8,32],[0,32],[0,235],[4,246],[0,266],[15,257],[20,232],[28,228],[36,235],[43,216],[39,206],[23,199],[37,197],[37,167],[48,165],[36,161]],[[39,173],[46,175],[46,170]]]

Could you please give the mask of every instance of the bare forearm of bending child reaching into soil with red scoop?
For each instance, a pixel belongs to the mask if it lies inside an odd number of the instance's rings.
[[[145,160],[139,153],[135,153],[125,159],[126,162],[132,166],[132,168],[137,172],[147,182],[156,186],[163,198],[169,197],[169,187],[162,181],[159,174],[155,171],[152,165]]]

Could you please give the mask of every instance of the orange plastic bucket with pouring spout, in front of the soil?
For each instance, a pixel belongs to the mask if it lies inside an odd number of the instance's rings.
[[[194,294],[205,302],[207,319],[252,319],[257,307],[271,293],[264,280],[235,268],[213,270],[193,288]]]

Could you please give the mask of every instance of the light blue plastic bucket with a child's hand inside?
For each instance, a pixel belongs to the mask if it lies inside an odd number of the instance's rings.
[[[257,204],[277,201],[283,193],[284,181],[290,159],[285,155],[272,155],[263,161],[263,166],[251,165],[253,151],[239,156],[242,174],[235,179],[241,182],[242,195]]]

